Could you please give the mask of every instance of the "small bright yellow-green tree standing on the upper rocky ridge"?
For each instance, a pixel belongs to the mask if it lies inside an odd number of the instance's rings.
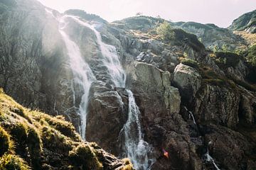
[[[161,40],[170,41],[174,39],[174,31],[172,30],[171,25],[166,21],[156,28],[156,33]]]

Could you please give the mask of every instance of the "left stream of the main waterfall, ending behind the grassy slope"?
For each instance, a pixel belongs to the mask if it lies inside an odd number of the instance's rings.
[[[65,33],[65,27],[67,23],[65,23],[66,16],[63,16],[60,19],[59,32],[62,35],[62,38],[65,42],[65,45],[68,50],[68,56],[70,68],[73,71],[74,79],[73,84],[79,86],[82,90],[82,98],[79,106],[79,115],[81,120],[80,125],[80,134],[82,139],[85,140],[85,129],[86,129],[86,118],[87,118],[87,104],[90,92],[90,86],[92,81],[95,79],[92,70],[90,69],[87,62],[82,59],[82,55],[80,53],[80,49],[77,44],[73,40],[70,40],[70,37],[67,33]],[[75,92],[74,92],[75,94]]]

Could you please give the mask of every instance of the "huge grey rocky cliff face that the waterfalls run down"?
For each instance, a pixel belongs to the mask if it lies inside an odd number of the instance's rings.
[[[81,132],[83,91],[75,83],[59,31],[64,14],[32,0],[1,1],[0,6],[0,86],[26,107],[64,115]],[[174,42],[164,42],[154,33],[164,22],[161,18],[107,23],[83,11],[66,14],[73,17],[65,18],[63,30],[95,75],[88,89],[87,141],[119,157],[126,155],[122,130],[129,118],[130,89],[141,113],[143,138],[153,148],[151,169],[255,169],[256,131],[248,125],[255,126],[256,97],[246,82],[250,67],[244,59],[213,54],[195,35],[178,29]],[[210,40],[215,33],[220,40],[228,37],[234,48],[240,40],[212,25],[171,24],[196,31],[207,47],[223,45]],[[115,47],[109,52],[118,55],[124,68],[126,89],[115,86],[95,31],[103,43]]]

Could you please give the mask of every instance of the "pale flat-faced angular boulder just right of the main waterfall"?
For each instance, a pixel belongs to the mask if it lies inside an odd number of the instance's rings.
[[[162,103],[170,113],[179,113],[181,96],[178,89],[171,86],[171,74],[163,72],[152,64],[134,62],[129,68],[131,84],[136,91],[151,92],[151,96],[163,96]],[[163,100],[164,99],[164,100]]]

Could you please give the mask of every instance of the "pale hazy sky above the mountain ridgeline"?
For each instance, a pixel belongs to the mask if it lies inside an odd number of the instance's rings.
[[[235,18],[256,9],[256,0],[38,0],[60,12],[80,8],[107,21],[142,12],[171,21],[215,23],[228,27]]]

